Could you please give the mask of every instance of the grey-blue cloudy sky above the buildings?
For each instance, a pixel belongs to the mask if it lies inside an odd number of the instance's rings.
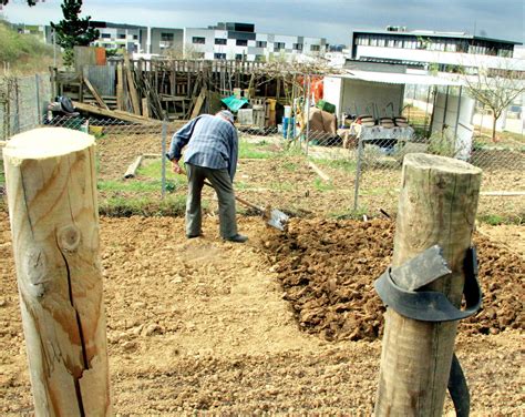
[[[62,18],[60,0],[29,8],[10,0],[1,12],[13,23]],[[405,26],[465,31],[524,42],[524,0],[84,0],[93,20],[167,28],[206,28],[218,21],[255,23],[256,31],[350,42],[354,29]]]

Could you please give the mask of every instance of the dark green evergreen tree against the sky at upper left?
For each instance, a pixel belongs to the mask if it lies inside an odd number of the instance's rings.
[[[73,63],[73,48],[87,47],[99,39],[99,30],[90,27],[91,17],[80,19],[82,0],[64,0],[61,6],[64,19],[59,23],[51,22],[51,27],[56,35],[56,43],[64,49],[64,64],[70,67]]]

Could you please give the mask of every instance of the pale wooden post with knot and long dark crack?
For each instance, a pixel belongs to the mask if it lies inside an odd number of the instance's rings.
[[[3,156],[35,415],[109,416],[94,139],[37,129]]]

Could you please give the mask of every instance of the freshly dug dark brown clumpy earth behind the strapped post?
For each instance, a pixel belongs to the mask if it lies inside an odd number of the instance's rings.
[[[375,339],[384,306],[373,282],[391,262],[394,224],[294,220],[287,234],[264,246],[300,327],[327,340]],[[497,334],[523,329],[524,261],[503,245],[476,235],[483,307],[461,322],[460,332]]]

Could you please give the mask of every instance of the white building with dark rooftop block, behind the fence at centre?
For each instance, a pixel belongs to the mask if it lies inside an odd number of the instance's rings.
[[[284,54],[320,55],[325,38],[297,37],[255,31],[255,24],[226,22],[214,27],[185,28],[184,51],[207,60],[265,61]]]

